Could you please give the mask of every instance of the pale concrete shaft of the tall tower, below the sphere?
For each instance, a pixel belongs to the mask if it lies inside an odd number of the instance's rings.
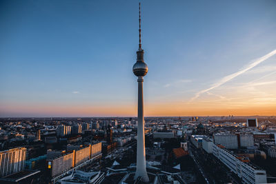
[[[135,179],[141,176],[141,181],[148,182],[148,174],[146,172],[143,81],[143,76],[138,76],[137,167]]]

